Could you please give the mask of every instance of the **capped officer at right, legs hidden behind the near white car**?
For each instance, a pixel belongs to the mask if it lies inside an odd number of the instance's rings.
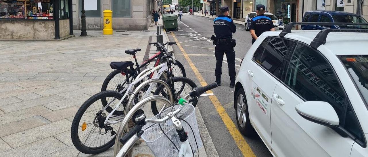
[[[252,35],[252,44],[263,32],[275,30],[271,18],[263,15],[265,13],[265,6],[263,4],[258,4],[256,6],[256,13],[257,16],[251,19],[251,24],[249,26]]]

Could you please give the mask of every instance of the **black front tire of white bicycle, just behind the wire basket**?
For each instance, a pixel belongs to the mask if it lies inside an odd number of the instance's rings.
[[[175,82],[183,82],[183,86],[185,86],[185,84],[190,85],[190,90],[192,90],[192,88],[197,87],[197,84],[194,83],[194,81],[192,81],[191,79],[187,78],[187,77],[173,77],[173,83]],[[172,84],[170,84],[170,80],[166,81],[167,84],[169,84],[169,86],[171,87]],[[184,87],[181,87],[179,92],[176,92],[175,96],[178,96],[178,94],[181,94],[181,92],[183,92]],[[162,94],[162,96],[168,98],[168,95],[166,94],[166,92],[164,92],[164,86],[163,85],[159,85],[159,87],[156,89],[155,93],[153,95],[159,95]],[[189,94],[189,93],[186,93]],[[178,98],[177,98],[178,99]],[[197,101],[192,102],[192,105],[195,107],[197,106]],[[159,111],[157,110],[157,104],[156,101],[151,101],[151,110],[152,113],[154,115],[159,114]]]

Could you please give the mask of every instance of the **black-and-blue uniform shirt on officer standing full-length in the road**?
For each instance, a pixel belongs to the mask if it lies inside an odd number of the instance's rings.
[[[215,29],[216,39],[232,38],[236,31],[233,19],[225,15],[219,15],[213,20],[213,28]]]

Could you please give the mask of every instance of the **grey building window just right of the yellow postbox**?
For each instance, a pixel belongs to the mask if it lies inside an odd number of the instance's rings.
[[[113,17],[131,17],[131,0],[112,0],[112,11]]]

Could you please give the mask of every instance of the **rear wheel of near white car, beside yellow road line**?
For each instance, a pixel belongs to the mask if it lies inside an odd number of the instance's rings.
[[[245,136],[253,136],[255,131],[249,119],[248,105],[243,88],[237,91],[234,105],[239,131]]]

